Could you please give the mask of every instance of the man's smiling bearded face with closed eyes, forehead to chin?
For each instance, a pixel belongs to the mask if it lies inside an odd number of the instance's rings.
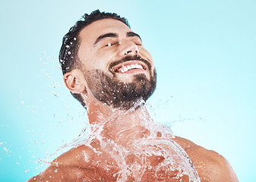
[[[97,20],[81,30],[78,58],[87,89],[114,108],[147,100],[156,87],[156,71],[141,38],[119,20]]]

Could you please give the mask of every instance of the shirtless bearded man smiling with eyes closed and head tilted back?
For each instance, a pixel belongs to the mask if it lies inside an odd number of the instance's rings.
[[[145,102],[156,70],[125,18],[84,14],[59,58],[65,85],[87,109],[90,136],[29,181],[238,181],[223,156],[152,121]]]

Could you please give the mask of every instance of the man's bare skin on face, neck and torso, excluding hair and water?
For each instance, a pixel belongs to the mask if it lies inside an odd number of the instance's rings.
[[[144,49],[140,37],[119,20],[98,20],[85,27],[80,33],[81,45],[78,50],[78,57],[83,62],[83,68],[65,74],[65,84],[73,93],[81,93],[87,105],[87,115],[90,124],[103,124],[103,120],[109,116],[119,115],[118,121],[106,124],[102,133],[103,138],[111,139],[120,147],[131,149],[132,143],[140,138],[147,138],[150,131],[140,125],[141,110],[131,112],[129,117],[122,117],[125,111],[122,109],[112,109],[109,105],[104,105],[93,96],[87,80],[84,78],[84,70],[93,71],[98,69],[112,76],[112,69],[109,65],[124,58],[127,55],[140,55],[141,58],[149,61],[153,67],[153,60],[149,52]],[[109,43],[111,46],[109,46]],[[132,62],[134,64],[134,62]],[[136,64],[136,63],[135,63]],[[137,64],[142,64],[137,61]],[[147,67],[143,64],[143,67]],[[144,74],[150,79],[150,71],[138,67],[132,71],[120,69],[116,65],[115,77],[122,82],[131,83],[134,75]],[[133,127],[134,126],[134,127]],[[128,132],[118,134],[120,130],[130,127]],[[162,133],[158,133],[156,138],[161,139]],[[229,162],[216,152],[204,149],[181,137],[172,138],[187,152],[191,162],[198,171],[201,181],[238,181]],[[100,152],[100,155],[97,153]],[[170,152],[172,155],[172,152]],[[147,168],[144,171],[141,181],[189,181],[184,175],[177,179],[179,171],[166,173],[169,166],[163,167],[162,171],[154,171],[154,166],[160,165],[165,158],[160,155],[141,156],[146,158]],[[127,155],[125,158],[127,165],[140,164],[141,158],[136,155]],[[152,168],[148,168],[151,166]],[[106,168],[108,170],[106,170]],[[51,165],[30,181],[116,181],[120,170],[115,156],[106,152],[99,140],[92,140],[90,147],[87,145],[77,146],[74,149],[56,158]],[[156,174],[156,175],[155,175]],[[134,181],[133,175],[128,175],[125,181]]]

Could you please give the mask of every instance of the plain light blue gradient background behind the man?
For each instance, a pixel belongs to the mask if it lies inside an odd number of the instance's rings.
[[[256,181],[255,7],[253,0],[2,2],[0,181],[40,173],[46,165],[36,161],[84,127],[58,51],[75,21],[96,8],[127,17],[152,53],[154,120],[220,152],[239,181]]]

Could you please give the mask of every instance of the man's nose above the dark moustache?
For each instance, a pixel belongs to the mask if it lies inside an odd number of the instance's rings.
[[[125,56],[125,55],[136,55],[138,52],[137,45],[130,41],[130,40],[122,40],[122,42],[119,42],[119,56]]]

